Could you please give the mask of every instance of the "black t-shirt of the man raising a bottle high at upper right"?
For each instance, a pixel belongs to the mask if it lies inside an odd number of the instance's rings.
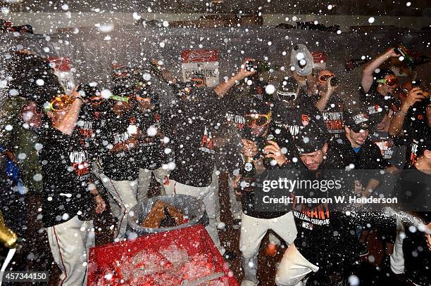
[[[368,113],[368,118],[370,119],[371,124],[382,122],[387,110],[390,108],[396,109],[396,106],[399,105],[391,94],[382,96],[378,93],[375,85],[371,86],[368,92],[364,91],[361,86],[359,93],[359,100],[361,100],[363,110]]]

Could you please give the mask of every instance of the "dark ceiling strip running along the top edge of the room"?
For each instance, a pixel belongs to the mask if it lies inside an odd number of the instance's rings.
[[[7,4],[11,12],[62,12],[68,4],[70,12],[125,12],[125,13],[258,13],[264,14],[320,14],[320,15],[387,15],[429,16],[431,0],[23,0],[19,4]],[[51,4],[50,4],[51,2]],[[408,6],[408,3],[411,5]],[[328,5],[334,6],[328,9]],[[63,6],[63,8],[62,8]],[[99,9],[99,10],[97,10]]]

